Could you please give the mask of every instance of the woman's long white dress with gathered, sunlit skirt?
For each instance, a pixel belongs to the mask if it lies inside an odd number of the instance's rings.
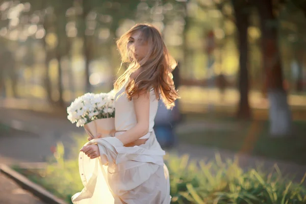
[[[133,100],[126,98],[124,87],[116,94],[116,131],[127,131],[136,124]],[[118,97],[121,93],[120,97]],[[115,137],[93,139],[100,157],[79,156],[79,170],[84,189],[72,196],[76,204],[169,204],[169,173],[153,126],[158,108],[154,91],[150,92],[149,133],[145,144],[124,147]],[[122,134],[124,132],[118,132]]]

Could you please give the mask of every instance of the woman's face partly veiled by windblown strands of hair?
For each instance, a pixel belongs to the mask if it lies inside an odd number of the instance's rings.
[[[129,37],[127,50],[134,55],[137,61],[143,59],[148,53],[148,43],[141,38],[141,32],[137,31]]]

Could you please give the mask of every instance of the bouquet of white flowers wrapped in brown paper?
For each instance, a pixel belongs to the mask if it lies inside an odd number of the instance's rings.
[[[112,135],[115,131],[114,91],[109,93],[86,93],[76,98],[67,108],[67,118],[77,126],[84,126],[89,136],[94,138]]]

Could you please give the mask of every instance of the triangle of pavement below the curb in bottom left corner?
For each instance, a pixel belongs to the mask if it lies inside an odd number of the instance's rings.
[[[39,198],[23,190],[6,175],[0,173],[0,204],[45,204]]]

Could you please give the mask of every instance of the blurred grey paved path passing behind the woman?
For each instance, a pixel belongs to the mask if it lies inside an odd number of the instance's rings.
[[[7,137],[0,137],[0,162],[12,164],[16,162],[44,162],[46,157],[52,156],[50,147],[56,145],[58,141],[64,143],[65,151],[69,154],[75,151],[73,147],[73,135],[75,137],[84,137],[82,128],[75,127],[65,118],[48,117],[46,114],[33,113],[29,111],[18,111],[13,109],[0,109],[0,123],[6,123],[21,130],[33,132],[35,134],[20,134]],[[192,124],[182,124],[177,131],[201,131],[207,128],[215,128],[216,125],[205,121],[198,121]],[[220,126],[218,126],[220,128]],[[221,128],[230,129],[231,126],[222,126]],[[13,151],[12,151],[13,150]],[[222,149],[209,148],[205,146],[196,146],[189,144],[179,144],[172,152],[179,155],[189,154],[195,159],[214,159],[215,153],[219,152],[221,158],[233,159],[239,157],[240,166],[244,169],[255,168],[263,164],[264,170],[270,170],[277,163],[283,173],[296,174],[299,181],[306,172],[306,166],[297,165],[288,162],[274,161],[260,157],[250,157],[246,155],[237,155],[235,152]]]

